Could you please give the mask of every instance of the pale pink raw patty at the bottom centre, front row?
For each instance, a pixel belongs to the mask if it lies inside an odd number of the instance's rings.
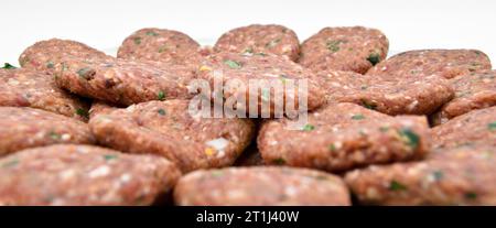
[[[180,180],[174,199],[182,206],[351,205],[339,177],[293,167],[196,171]]]

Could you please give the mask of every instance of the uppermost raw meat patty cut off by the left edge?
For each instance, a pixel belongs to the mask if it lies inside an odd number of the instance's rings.
[[[32,69],[0,69],[0,106],[31,107],[88,119],[89,106],[80,98],[60,89],[53,77]]]

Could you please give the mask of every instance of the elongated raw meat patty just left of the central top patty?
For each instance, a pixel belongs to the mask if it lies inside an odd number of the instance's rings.
[[[55,65],[55,80],[74,94],[118,105],[191,98],[192,68],[151,62],[66,57]]]

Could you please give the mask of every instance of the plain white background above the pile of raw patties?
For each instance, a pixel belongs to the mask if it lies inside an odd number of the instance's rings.
[[[2,0],[0,63],[18,65],[36,41],[80,41],[114,54],[133,31],[157,26],[212,44],[229,29],[279,23],[303,41],[324,26],[380,29],[392,52],[414,48],[479,48],[496,59],[494,0]]]

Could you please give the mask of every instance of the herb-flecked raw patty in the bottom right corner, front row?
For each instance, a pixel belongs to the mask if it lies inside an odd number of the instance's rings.
[[[496,205],[496,149],[461,148],[442,159],[370,166],[346,174],[363,204]]]

